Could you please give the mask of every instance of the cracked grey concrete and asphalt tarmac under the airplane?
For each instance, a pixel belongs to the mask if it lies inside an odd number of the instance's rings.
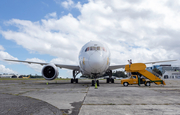
[[[48,84],[47,84],[48,82]],[[129,85],[120,80],[2,80],[0,115],[180,115],[180,80]]]

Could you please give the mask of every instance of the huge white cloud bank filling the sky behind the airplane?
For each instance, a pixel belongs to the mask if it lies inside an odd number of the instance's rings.
[[[8,24],[19,30],[0,33],[30,51],[59,57],[52,62],[64,64],[78,62],[80,48],[90,40],[106,42],[112,64],[125,64],[130,58],[134,62],[180,59],[178,1],[90,0],[77,4],[68,0],[64,7],[78,6],[78,18],[68,14],[39,22],[12,19]]]

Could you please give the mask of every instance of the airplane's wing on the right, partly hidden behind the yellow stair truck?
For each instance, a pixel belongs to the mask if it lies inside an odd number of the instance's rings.
[[[162,63],[162,62],[171,62],[171,61],[177,61],[177,60],[166,60],[166,61],[155,61],[155,62],[146,62],[144,64],[155,64],[155,63]],[[127,64],[126,64],[127,65]],[[119,69],[119,68],[125,68],[126,65],[113,65],[109,66],[109,70]]]

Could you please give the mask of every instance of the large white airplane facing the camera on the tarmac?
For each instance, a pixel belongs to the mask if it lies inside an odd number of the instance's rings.
[[[58,75],[58,67],[73,70],[73,78],[71,83],[78,83],[76,76],[79,73],[82,73],[83,76],[87,76],[92,80],[92,86],[97,84],[99,86],[99,80],[97,78],[102,77],[105,73],[109,75],[109,78],[106,79],[106,82],[114,83],[112,78],[112,70],[124,68],[125,65],[110,65],[110,50],[107,45],[99,41],[90,41],[86,43],[80,50],[79,53],[79,65],[63,65],[55,63],[41,63],[41,62],[31,62],[31,61],[21,61],[21,60],[10,60],[4,59],[6,61],[22,62],[28,64],[40,64],[44,65],[42,69],[42,76],[46,80],[54,80]],[[176,60],[167,60],[167,61],[158,61],[158,62],[148,62],[145,64],[154,64],[161,62],[169,62]]]

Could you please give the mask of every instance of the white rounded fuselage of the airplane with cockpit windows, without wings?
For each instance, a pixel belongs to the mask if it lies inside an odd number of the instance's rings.
[[[79,65],[83,75],[103,75],[110,65],[109,48],[97,41],[88,42],[79,53]]]

